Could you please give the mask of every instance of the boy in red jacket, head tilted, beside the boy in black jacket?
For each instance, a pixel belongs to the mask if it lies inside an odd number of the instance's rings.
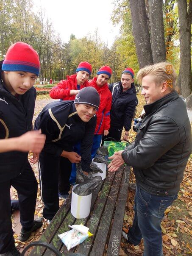
[[[100,96],[100,105],[97,111],[97,124],[92,146],[92,157],[95,157],[97,149],[100,147],[102,135],[107,136],[110,128],[110,110],[112,96],[107,81],[111,77],[112,70],[109,66],[103,66],[97,72],[97,77],[89,81]]]

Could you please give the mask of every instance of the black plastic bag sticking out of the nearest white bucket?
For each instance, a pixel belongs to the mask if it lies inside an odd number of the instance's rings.
[[[92,190],[97,188],[97,186],[102,182],[101,176],[95,176],[94,178],[89,178],[83,181],[81,184],[75,186],[73,192],[77,195],[85,196],[91,194]]]

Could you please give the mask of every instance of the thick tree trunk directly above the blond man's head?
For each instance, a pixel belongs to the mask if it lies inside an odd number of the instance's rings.
[[[153,64],[145,0],[129,0],[139,68]]]

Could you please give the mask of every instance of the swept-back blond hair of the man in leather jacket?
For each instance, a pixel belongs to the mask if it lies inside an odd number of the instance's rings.
[[[169,74],[171,73],[171,74]],[[168,62],[160,62],[154,65],[149,65],[140,69],[137,73],[137,80],[142,84],[142,79],[146,75],[153,75],[156,86],[166,82],[170,91],[175,90],[177,74],[173,65]],[[172,81],[171,81],[172,80]],[[171,87],[172,85],[172,87]]]

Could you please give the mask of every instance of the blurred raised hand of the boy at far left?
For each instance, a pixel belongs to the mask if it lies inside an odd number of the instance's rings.
[[[46,136],[39,131],[28,131],[17,138],[17,150],[28,152],[31,150],[34,153],[40,153],[45,144]]]

